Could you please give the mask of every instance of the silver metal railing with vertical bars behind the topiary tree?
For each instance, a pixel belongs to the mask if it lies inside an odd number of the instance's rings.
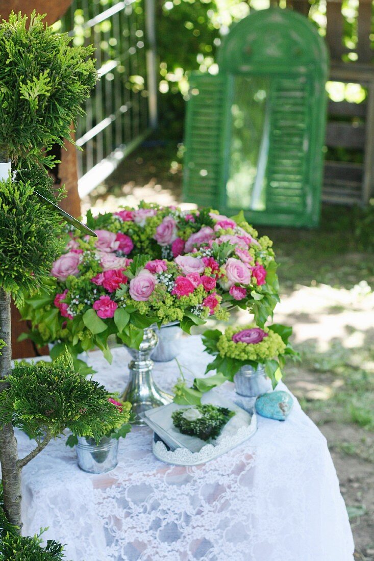
[[[76,130],[84,196],[157,125],[154,0],[74,0],[56,29],[95,46],[100,80]]]

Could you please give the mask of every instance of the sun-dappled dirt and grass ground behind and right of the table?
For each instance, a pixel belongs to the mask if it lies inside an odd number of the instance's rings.
[[[142,146],[83,201],[83,211],[140,200],[181,200],[174,146]],[[274,242],[281,304],[302,362],[285,381],[326,436],[355,540],[355,559],[374,561],[374,260],[370,215],[324,207],[316,230],[259,228]],[[243,322],[243,314],[236,317]],[[248,320],[247,320],[248,321]]]

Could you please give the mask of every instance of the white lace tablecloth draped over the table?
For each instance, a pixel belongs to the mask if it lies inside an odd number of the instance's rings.
[[[202,375],[209,356],[199,337],[179,360]],[[108,365],[90,353],[94,376],[121,392],[129,355]],[[175,361],[156,363],[170,389]],[[227,389],[232,384],[226,383]],[[286,389],[281,384],[282,389]],[[31,448],[18,433],[22,453]],[[258,418],[257,433],[206,465],[171,466],[152,454],[148,427],[120,440],[115,470],[90,475],[57,440],[25,467],[23,533],[66,544],[72,561],[352,561],[353,539],[326,440],[295,401],[285,422]]]

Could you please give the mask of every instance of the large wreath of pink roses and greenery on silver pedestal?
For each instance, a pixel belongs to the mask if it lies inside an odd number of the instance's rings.
[[[37,344],[56,342],[74,354],[98,346],[111,360],[107,339],[138,348],[143,329],[179,321],[189,333],[209,315],[227,319],[239,305],[259,325],[279,297],[272,242],[258,238],[243,213],[212,209],[186,213],[141,204],[93,217],[97,238],[66,233],[66,249],[52,266],[49,289],[23,310]]]

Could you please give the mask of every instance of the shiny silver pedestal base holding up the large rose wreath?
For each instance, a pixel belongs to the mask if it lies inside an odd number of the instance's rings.
[[[121,399],[132,404],[132,411],[135,413],[134,425],[145,425],[139,413],[172,401],[172,396],[159,389],[152,378],[153,361],[150,360],[150,355],[156,345],[156,333],[152,328],[147,328],[144,329],[139,349],[126,347],[133,360],[129,363],[129,383]]]

